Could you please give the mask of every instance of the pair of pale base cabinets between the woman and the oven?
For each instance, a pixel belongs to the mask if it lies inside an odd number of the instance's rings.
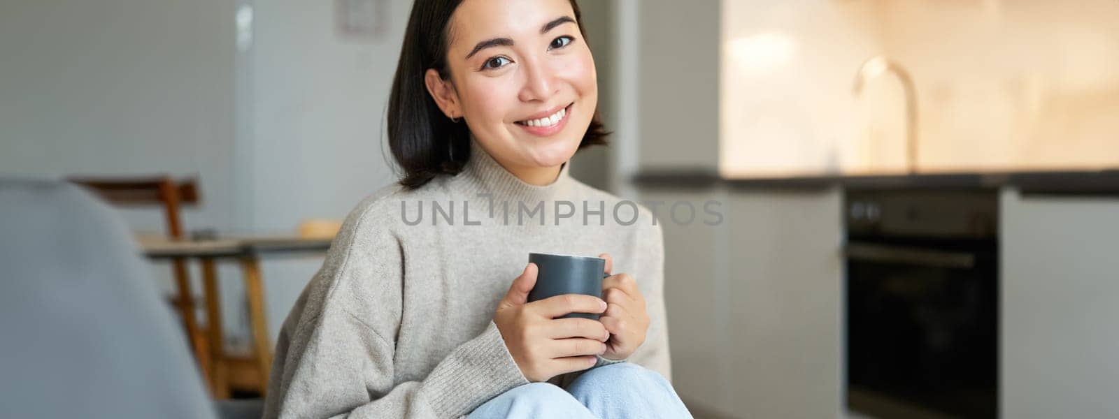
[[[665,225],[674,385],[697,417],[837,417],[840,192],[647,190],[642,199],[722,202],[718,226]]]

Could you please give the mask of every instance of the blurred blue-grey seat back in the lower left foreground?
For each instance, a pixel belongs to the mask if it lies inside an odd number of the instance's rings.
[[[258,418],[207,397],[123,221],[77,187],[0,178],[4,417]]]

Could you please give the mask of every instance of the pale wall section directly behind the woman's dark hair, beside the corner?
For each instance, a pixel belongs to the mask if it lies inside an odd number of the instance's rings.
[[[333,1],[256,0],[245,65],[252,133],[243,162],[254,231],[294,231],[308,218],[344,218],[392,183],[384,114],[410,0],[386,0],[382,36],[335,32]],[[385,144],[385,145],[383,145]],[[321,257],[263,265],[273,341]]]

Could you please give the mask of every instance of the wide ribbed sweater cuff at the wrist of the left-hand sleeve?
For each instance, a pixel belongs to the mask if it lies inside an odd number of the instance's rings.
[[[458,418],[489,399],[527,384],[505,346],[501,332],[489,326],[451,352],[424,380],[424,396],[441,418]]]

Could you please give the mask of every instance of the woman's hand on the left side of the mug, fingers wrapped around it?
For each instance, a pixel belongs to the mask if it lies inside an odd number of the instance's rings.
[[[493,313],[493,323],[513,360],[533,382],[594,366],[598,360],[594,355],[606,352],[603,342],[610,337],[603,324],[589,318],[555,317],[568,313],[603,313],[608,310],[606,303],[582,294],[527,303],[528,292],[536,285],[536,264],[528,264]]]

